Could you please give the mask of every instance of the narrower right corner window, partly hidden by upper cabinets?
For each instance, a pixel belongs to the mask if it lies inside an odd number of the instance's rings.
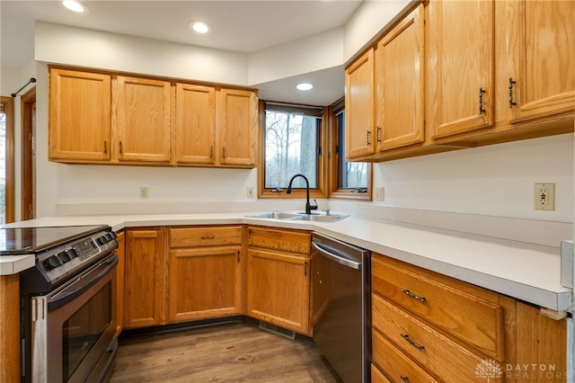
[[[331,147],[332,175],[331,193],[334,198],[370,200],[371,165],[360,162],[348,162],[345,159],[345,109],[344,102],[336,102],[330,107],[332,119]]]

